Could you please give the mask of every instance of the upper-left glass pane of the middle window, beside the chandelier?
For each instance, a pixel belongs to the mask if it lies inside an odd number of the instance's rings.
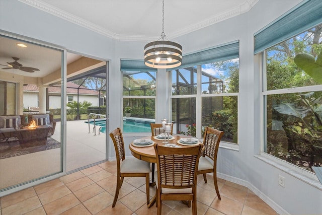
[[[197,66],[172,70],[172,95],[197,94]]]

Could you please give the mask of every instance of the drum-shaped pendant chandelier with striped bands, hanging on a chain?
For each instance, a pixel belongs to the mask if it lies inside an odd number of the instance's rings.
[[[161,37],[144,46],[144,63],[153,68],[174,68],[181,65],[182,46],[166,38],[165,3],[162,1],[162,34]]]

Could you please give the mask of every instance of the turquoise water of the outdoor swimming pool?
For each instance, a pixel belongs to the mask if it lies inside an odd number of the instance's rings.
[[[87,121],[85,123],[88,123]],[[94,121],[90,121],[90,124],[94,124]],[[101,132],[106,132],[106,121],[105,119],[96,119],[95,124],[101,126]],[[93,129],[93,127],[91,127]],[[98,132],[98,130],[96,130]],[[138,121],[138,120],[123,120],[123,133],[132,132],[151,132],[151,126],[149,121]]]

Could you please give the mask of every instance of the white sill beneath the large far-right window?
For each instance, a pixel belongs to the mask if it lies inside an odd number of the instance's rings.
[[[305,183],[307,183],[319,190],[322,190],[322,184],[318,181],[316,176],[315,176],[316,179],[313,178],[314,177],[313,174],[312,174],[313,175],[312,177],[309,177],[306,174],[303,174],[303,173],[300,173],[296,170],[293,170],[283,164],[280,164],[279,162],[275,162],[272,159],[267,158],[262,155],[259,155],[259,156],[256,155],[255,158],[258,158],[261,161],[263,161],[269,165],[272,165],[273,167],[275,167],[275,168],[277,168],[277,169],[279,169],[279,170],[281,170],[281,171],[283,171],[283,172],[285,172],[285,173],[287,173],[287,174],[289,174],[289,175],[291,175],[291,176],[293,176],[293,177],[295,177],[295,178],[297,178],[297,179],[299,179],[299,180],[301,180],[301,181],[303,181],[303,182],[305,182]]]

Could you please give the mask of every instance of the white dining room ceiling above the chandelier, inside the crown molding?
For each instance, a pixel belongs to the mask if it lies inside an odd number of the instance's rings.
[[[161,0],[22,1],[70,22],[121,40],[159,38]],[[166,0],[164,30],[168,39],[249,11],[258,0]]]

